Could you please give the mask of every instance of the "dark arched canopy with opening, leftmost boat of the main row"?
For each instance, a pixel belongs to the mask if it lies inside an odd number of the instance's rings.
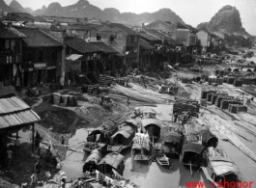
[[[92,130],[92,132],[88,135],[87,141],[107,143],[109,141],[109,137],[112,136],[117,129],[118,125],[113,121],[104,121],[100,127]]]

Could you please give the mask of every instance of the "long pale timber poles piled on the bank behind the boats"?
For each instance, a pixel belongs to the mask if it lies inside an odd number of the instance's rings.
[[[134,99],[137,101],[142,101],[142,102],[149,102],[149,103],[166,103],[166,100],[172,100],[172,98],[169,97],[164,97],[164,94],[158,94],[156,92],[150,91],[143,89],[139,86],[136,86],[134,84],[131,84],[132,89],[128,89],[125,87],[122,87],[120,85],[112,86],[111,91],[114,94],[121,94],[128,96],[130,99]]]

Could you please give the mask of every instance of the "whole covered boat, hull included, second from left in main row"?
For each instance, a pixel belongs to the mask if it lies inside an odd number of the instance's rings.
[[[135,134],[136,127],[128,124],[122,126],[114,135],[111,136],[110,145],[107,150],[121,151],[132,145],[132,140]]]

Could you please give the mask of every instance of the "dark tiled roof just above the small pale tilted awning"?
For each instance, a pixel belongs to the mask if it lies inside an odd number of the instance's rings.
[[[67,45],[80,53],[92,53],[102,51],[98,46],[81,39],[67,40]]]

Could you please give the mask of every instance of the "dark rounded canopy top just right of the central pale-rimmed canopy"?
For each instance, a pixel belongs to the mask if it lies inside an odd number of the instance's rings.
[[[179,145],[182,142],[182,136],[174,130],[168,130],[167,127],[161,129],[159,142]]]

